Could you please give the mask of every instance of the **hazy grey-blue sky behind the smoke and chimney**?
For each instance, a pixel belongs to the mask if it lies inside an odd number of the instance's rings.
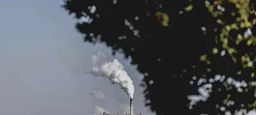
[[[119,105],[129,104],[129,97],[118,85],[84,73],[83,67],[98,51],[109,61],[120,60],[134,81],[134,114],[150,114],[143,105],[140,74],[135,67],[121,55],[112,57],[104,45],[83,43],[74,20],[60,3],[1,2],[0,114],[82,115],[92,114],[95,105],[116,112]],[[106,92],[106,101],[99,103],[90,98],[88,93],[97,88]]]

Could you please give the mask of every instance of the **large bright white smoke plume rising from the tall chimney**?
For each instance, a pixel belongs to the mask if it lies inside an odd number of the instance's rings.
[[[96,56],[93,55],[93,64],[97,62],[99,56],[99,53]],[[132,84],[132,79],[128,76],[127,72],[124,71],[124,66],[118,60],[115,59],[112,62],[106,62],[99,67],[93,67],[91,70],[85,69],[85,71],[86,73],[90,73],[95,76],[108,78],[112,84],[117,83],[122,89],[124,89],[127,95],[133,98],[134,85]]]

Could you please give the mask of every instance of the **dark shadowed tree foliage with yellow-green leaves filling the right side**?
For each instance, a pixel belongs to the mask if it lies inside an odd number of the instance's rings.
[[[132,58],[152,111],[216,115],[256,106],[253,2],[67,0],[63,8],[85,41]]]

